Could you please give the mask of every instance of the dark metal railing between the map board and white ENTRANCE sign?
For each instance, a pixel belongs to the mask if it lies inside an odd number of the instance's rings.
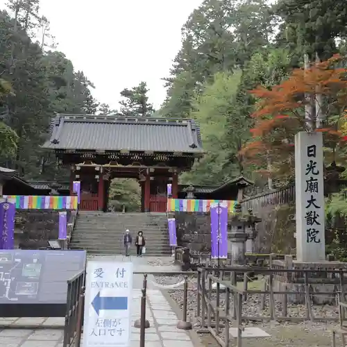
[[[67,281],[67,306],[63,347],[69,347],[72,344],[76,347],[80,346],[83,326],[84,286],[85,270],[77,273]]]

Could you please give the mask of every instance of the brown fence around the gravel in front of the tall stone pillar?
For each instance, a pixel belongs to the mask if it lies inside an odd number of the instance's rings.
[[[253,271],[258,276],[264,278],[264,287],[262,289],[242,289],[237,286],[237,278],[245,273]],[[328,275],[325,284],[328,282],[335,285],[333,291],[312,291],[311,286],[317,285],[317,279],[312,278],[311,273],[323,272]],[[229,269],[215,268],[198,268],[198,298],[196,316],[200,322],[200,333],[210,333],[219,343],[221,347],[230,346],[230,330],[234,328],[236,335],[236,346],[242,346],[242,331],[244,331],[244,323],[246,321],[339,321],[341,317],[336,316],[321,316],[314,314],[312,310],[313,296],[333,296],[336,304],[345,301],[344,285],[346,284],[346,271],[343,270],[293,270],[293,269],[264,269],[264,268],[243,268],[230,267]],[[226,273],[230,273],[230,279],[226,278]],[[301,283],[302,290],[278,290],[276,289],[275,281],[278,273],[290,274],[298,279]],[[299,279],[297,273],[303,273],[303,278]],[[216,289],[212,289],[213,283],[217,284]],[[212,295],[213,293],[213,295]],[[247,296],[251,295],[262,296],[262,301],[259,307],[255,307],[253,314],[250,316],[245,308]],[[305,312],[303,315],[294,316],[287,307],[287,296],[303,295],[305,297]],[[265,300],[265,298],[268,300]],[[280,298],[280,308],[278,307],[278,298]],[[254,305],[253,305],[254,306]],[[266,310],[265,310],[266,309]],[[322,312],[323,313],[323,312]]]

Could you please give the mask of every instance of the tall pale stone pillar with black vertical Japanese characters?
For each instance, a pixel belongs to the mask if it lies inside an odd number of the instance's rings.
[[[296,259],[325,260],[323,135],[295,136]]]

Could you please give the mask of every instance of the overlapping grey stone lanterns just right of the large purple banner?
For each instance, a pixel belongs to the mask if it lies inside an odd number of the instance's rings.
[[[247,251],[253,251],[253,240],[257,237],[255,224],[259,221],[261,219],[255,217],[252,210],[248,210],[248,214],[242,214],[241,204],[237,203],[235,205],[235,214],[232,215],[228,223],[232,266],[246,263],[246,242],[248,241]]]

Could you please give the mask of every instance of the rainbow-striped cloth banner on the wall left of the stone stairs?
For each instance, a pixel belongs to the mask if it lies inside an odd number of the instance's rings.
[[[77,210],[77,196],[3,195],[18,210]]]

